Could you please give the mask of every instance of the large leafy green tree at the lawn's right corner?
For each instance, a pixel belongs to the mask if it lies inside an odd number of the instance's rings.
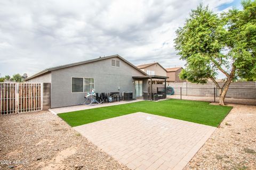
[[[211,79],[220,89],[220,105],[233,80],[256,74],[256,2],[242,5],[241,11],[233,8],[217,15],[200,4],[174,39],[178,55],[186,61],[180,78],[195,83]],[[221,87],[216,81],[219,72],[226,76]]]

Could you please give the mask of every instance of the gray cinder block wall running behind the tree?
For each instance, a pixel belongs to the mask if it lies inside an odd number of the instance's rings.
[[[222,86],[223,82],[219,82],[219,84]],[[167,86],[174,88],[175,95],[180,95],[180,87],[182,87],[182,95],[203,97],[213,97],[214,87],[216,88],[213,82],[206,84],[197,84],[191,82],[170,82],[167,83]],[[156,92],[157,87],[164,87],[164,84],[153,84],[153,92]],[[215,91],[215,95],[218,96],[218,94],[219,90],[217,89]],[[232,82],[229,86],[226,97],[238,99],[256,99],[256,82]]]

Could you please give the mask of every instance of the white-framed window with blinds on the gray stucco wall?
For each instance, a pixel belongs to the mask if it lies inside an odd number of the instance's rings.
[[[90,92],[94,89],[93,78],[72,78],[72,92]]]

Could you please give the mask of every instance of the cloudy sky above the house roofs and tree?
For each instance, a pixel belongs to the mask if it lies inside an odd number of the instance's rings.
[[[134,65],[183,66],[175,30],[201,2],[217,13],[239,8],[233,0],[1,1],[0,73],[31,76],[113,54]]]

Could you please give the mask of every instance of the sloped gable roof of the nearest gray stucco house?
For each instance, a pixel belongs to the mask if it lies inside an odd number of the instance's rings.
[[[141,71],[140,69],[138,69],[138,67],[136,67],[135,65],[133,65],[132,63],[130,63],[129,61],[125,60],[123,57],[119,56],[118,54],[115,54],[115,55],[110,55],[110,56],[106,56],[106,57],[99,57],[99,58],[94,58],[92,60],[86,60],[86,61],[82,61],[82,62],[77,62],[77,63],[71,63],[71,64],[66,64],[66,65],[60,65],[60,66],[57,66],[57,67],[51,67],[49,69],[45,69],[41,72],[38,72],[30,77],[28,77],[27,79],[25,80],[29,80],[29,79],[32,79],[32,78],[35,78],[35,77],[38,77],[39,75],[42,75],[42,74],[45,74],[45,73],[49,73],[53,70],[59,70],[59,69],[64,69],[64,68],[67,68],[67,67],[71,67],[71,66],[76,66],[76,65],[81,65],[81,64],[86,64],[86,63],[92,63],[92,62],[97,62],[97,61],[101,61],[101,60],[106,60],[108,58],[114,58],[114,57],[118,57],[120,58],[121,60],[123,60],[125,63],[131,65],[132,67],[134,67],[134,69],[140,71],[141,73],[145,74],[145,75],[148,75],[146,74],[145,72]]]

